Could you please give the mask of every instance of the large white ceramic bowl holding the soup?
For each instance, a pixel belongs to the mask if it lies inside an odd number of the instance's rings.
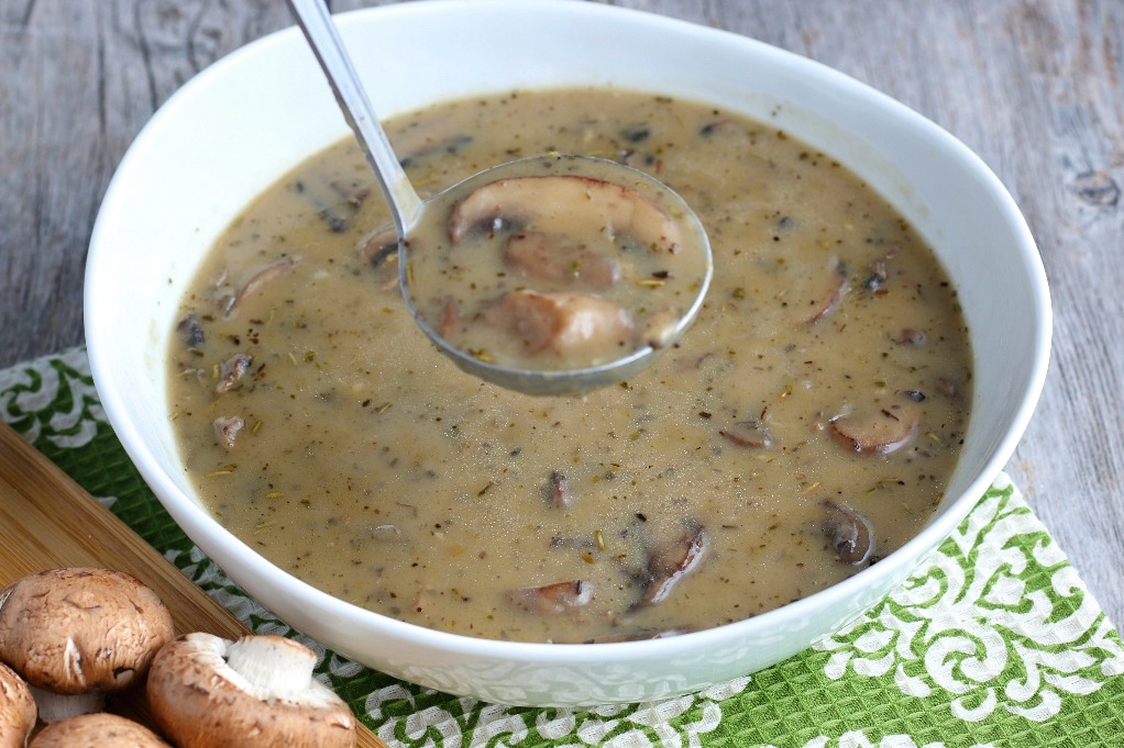
[[[164,361],[176,302],[212,240],[282,173],[348,134],[289,29],[190,81],[129,149],[94,228],[85,323],[102,405],[145,480],[188,536],[291,626],[395,676],[487,701],[583,705],[686,693],[777,663],[856,617],[905,580],[1001,469],[1045,376],[1050,301],[1010,197],[949,134],[803,57],[613,7],[411,2],[338,20],[383,117],[479,92],[611,83],[714,102],[832,154],[897,206],[957,284],[973,336],[975,411],[948,495],[917,538],[832,589],[707,631],[607,645],[488,641],[384,618],[293,578],[193,495],[169,422]]]

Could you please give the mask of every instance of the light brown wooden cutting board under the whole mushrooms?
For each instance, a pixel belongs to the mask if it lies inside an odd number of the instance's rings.
[[[128,572],[164,601],[176,633],[208,631],[237,639],[248,632],[54,463],[0,423],[0,587],[58,566]],[[143,690],[116,696],[111,709],[152,727]],[[357,745],[387,748],[363,726]]]

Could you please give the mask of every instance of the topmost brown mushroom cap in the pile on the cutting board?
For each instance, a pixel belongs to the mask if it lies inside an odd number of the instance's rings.
[[[124,572],[55,568],[0,591],[0,660],[54,693],[125,688],[173,636],[164,603]]]

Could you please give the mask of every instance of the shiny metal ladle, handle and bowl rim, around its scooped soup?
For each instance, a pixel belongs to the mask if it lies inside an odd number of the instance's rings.
[[[493,166],[423,200],[395,155],[323,0],[288,0],[288,3],[389,203],[398,238],[399,283],[409,311],[438,349],[457,366],[482,380],[526,394],[581,394],[626,380],[651,364],[661,352],[682,336],[703,305],[713,273],[713,258],[706,230],[674,191],[631,166],[602,158],[554,154]],[[635,188],[647,199],[655,201],[667,215],[676,217],[679,226],[686,227],[681,246],[677,245],[678,252],[680,255],[686,253],[699,272],[689,286],[690,298],[676,307],[676,318],[660,330],[658,341],[642,338],[634,347],[623,348],[619,357],[601,361],[596,365],[579,365],[573,368],[513,366],[462,349],[438,331],[441,325],[419,313],[417,300],[420,295],[432,295],[434,289],[422,289],[419,294],[415,274],[410,272],[410,238],[418,227],[426,221],[447,222],[455,204],[475,188],[526,176],[536,170],[564,171],[566,175],[596,179],[614,185],[631,185],[629,189]]]

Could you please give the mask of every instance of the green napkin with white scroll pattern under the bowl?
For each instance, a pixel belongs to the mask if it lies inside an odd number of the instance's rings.
[[[928,562],[845,630],[769,669],[659,702],[520,709],[422,688],[302,637],[196,548],[106,422],[85,353],[0,371],[0,418],[392,746],[1124,746],[1124,646],[1005,475]]]

